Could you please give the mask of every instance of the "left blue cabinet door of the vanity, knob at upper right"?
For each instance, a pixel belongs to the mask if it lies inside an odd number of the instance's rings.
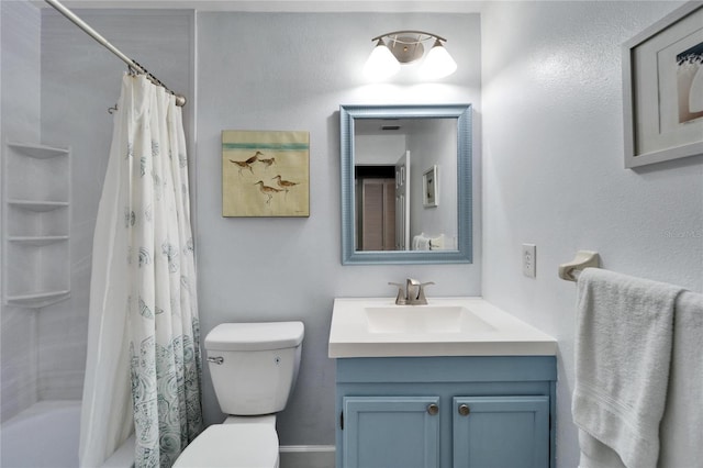
[[[345,397],[344,468],[437,468],[438,397]]]

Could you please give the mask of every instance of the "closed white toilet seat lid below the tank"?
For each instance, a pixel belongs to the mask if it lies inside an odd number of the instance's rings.
[[[276,468],[278,435],[268,424],[215,424],[180,454],[174,468]]]

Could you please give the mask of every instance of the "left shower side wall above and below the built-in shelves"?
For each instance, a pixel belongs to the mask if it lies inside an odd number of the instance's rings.
[[[29,2],[0,2],[0,152],[3,158],[7,141],[40,142],[40,37],[38,9]],[[2,193],[0,190],[0,197]],[[36,310],[0,303],[0,420],[5,421],[37,398]]]

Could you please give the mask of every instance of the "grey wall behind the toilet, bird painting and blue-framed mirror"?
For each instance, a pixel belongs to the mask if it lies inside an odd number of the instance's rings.
[[[221,322],[302,320],[300,378],[279,416],[282,445],[334,444],[334,371],[327,338],[335,297],[392,297],[388,281],[435,281],[429,297],[477,296],[480,182],[476,180],[473,265],[342,266],[339,104],[473,103],[480,135],[477,14],[198,13],[198,267],[203,335]],[[448,38],[459,64],[437,83],[413,69],[370,85],[361,68],[371,37],[419,29]],[[410,75],[410,77],[409,77]],[[310,132],[310,218],[222,218],[221,131]],[[480,174],[480,137],[475,174]],[[274,177],[271,174],[269,177]],[[205,420],[220,412],[205,372]]]

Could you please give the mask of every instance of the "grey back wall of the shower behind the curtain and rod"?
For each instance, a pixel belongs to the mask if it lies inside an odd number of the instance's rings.
[[[192,11],[76,12],[169,87],[192,97]],[[42,138],[72,149],[72,211],[71,297],[37,315],[40,399],[82,395],[92,235],[112,140],[108,108],[118,102],[125,71],[122,60],[66,18],[43,10]],[[190,129],[192,108],[185,112]]]

